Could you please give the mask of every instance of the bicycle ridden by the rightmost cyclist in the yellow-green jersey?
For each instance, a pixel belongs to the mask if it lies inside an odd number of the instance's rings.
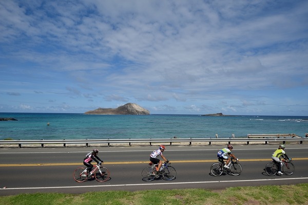
[[[274,176],[278,173],[279,171],[279,165],[277,164],[276,161],[272,161],[267,163],[267,165],[265,166],[265,172],[268,176]],[[287,158],[283,158],[281,160],[281,171],[282,173],[284,173],[285,175],[291,175],[293,174],[295,170],[295,166],[292,163],[292,159],[288,160]]]

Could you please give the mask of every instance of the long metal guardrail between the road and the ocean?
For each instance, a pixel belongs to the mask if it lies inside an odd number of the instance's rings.
[[[62,139],[62,140],[0,140],[0,145],[18,145],[19,148],[22,145],[41,145],[43,148],[45,145],[52,144],[63,144],[66,147],[67,144],[72,145],[82,145],[84,144],[86,147],[89,147],[91,144],[106,144],[108,147],[111,144],[149,144],[152,143],[158,144],[169,144],[172,145],[173,142],[188,142],[189,145],[192,145],[193,142],[208,142],[211,145],[212,142],[226,142],[227,144],[232,144],[233,142],[245,142],[249,145],[249,142],[264,142],[267,144],[268,142],[282,143],[285,142],[299,142],[300,144],[303,141],[308,141],[308,138],[169,138],[169,139]]]

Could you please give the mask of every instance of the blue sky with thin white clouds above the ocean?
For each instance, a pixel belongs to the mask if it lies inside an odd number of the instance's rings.
[[[0,112],[308,116],[308,1],[0,1]]]

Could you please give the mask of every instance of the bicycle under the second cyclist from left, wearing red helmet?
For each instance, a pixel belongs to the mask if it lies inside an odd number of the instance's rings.
[[[158,165],[150,162],[149,165],[151,167],[146,167],[141,172],[142,180],[152,181],[160,176],[162,176],[164,180],[174,180],[176,178],[177,171],[174,167],[171,167],[170,164],[171,163],[169,161],[165,161],[160,171],[156,171],[156,167]]]

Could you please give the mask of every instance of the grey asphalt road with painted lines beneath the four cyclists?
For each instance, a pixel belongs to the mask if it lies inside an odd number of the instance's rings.
[[[141,171],[148,165],[149,154],[157,147],[102,147],[99,156],[110,171],[110,180],[75,182],[73,171],[93,148],[2,148],[0,149],[0,196],[19,193],[84,193],[107,190],[149,189],[223,189],[237,186],[291,185],[308,182],[308,145],[287,145],[295,172],[291,176],[267,176],[264,167],[271,161],[277,145],[236,145],[235,154],[242,165],[239,176],[210,175],[222,146],[166,146],[164,155],[177,170],[172,181],[146,182]]]

